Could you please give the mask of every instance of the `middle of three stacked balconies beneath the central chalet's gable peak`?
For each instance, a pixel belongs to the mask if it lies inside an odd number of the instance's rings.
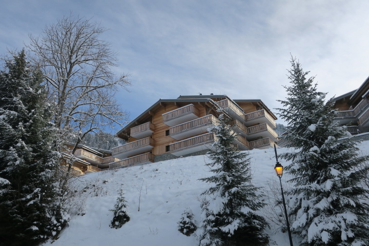
[[[215,116],[207,115],[169,128],[169,136],[176,140],[180,140],[207,132],[209,127],[212,127],[216,124],[217,119]]]

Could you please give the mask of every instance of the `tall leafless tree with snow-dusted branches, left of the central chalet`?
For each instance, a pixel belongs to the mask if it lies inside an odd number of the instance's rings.
[[[116,54],[100,39],[106,29],[90,19],[61,18],[34,37],[28,48],[43,70],[61,143],[76,139],[72,155],[86,134],[127,122],[114,99],[127,90],[127,75],[115,76]],[[70,163],[71,165],[71,163]],[[69,167],[70,168],[70,167]]]

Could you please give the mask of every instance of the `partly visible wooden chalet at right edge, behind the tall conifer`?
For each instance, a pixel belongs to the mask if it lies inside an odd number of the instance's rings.
[[[369,132],[369,77],[357,90],[335,97],[334,107],[340,110],[334,122],[353,135]]]

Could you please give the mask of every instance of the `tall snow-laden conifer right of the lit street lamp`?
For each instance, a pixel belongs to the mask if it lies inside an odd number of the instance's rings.
[[[317,91],[314,77],[306,78],[296,59],[291,64],[279,115],[288,122],[283,138],[296,148],[282,155],[292,161],[286,167],[294,183],[292,231],[303,238],[300,245],[369,245],[367,191],[358,178],[368,157],[358,154],[357,142],[341,139],[349,133],[332,124],[333,99],[324,103],[326,93]]]

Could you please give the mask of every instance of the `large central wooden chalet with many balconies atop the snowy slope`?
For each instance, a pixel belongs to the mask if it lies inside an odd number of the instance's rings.
[[[219,110],[237,132],[241,150],[270,148],[276,144],[276,116],[260,99],[232,100],[227,95],[179,96],[159,99],[116,135],[127,144],[113,148],[119,161],[111,169],[207,152],[216,136],[208,128],[217,124]]]

